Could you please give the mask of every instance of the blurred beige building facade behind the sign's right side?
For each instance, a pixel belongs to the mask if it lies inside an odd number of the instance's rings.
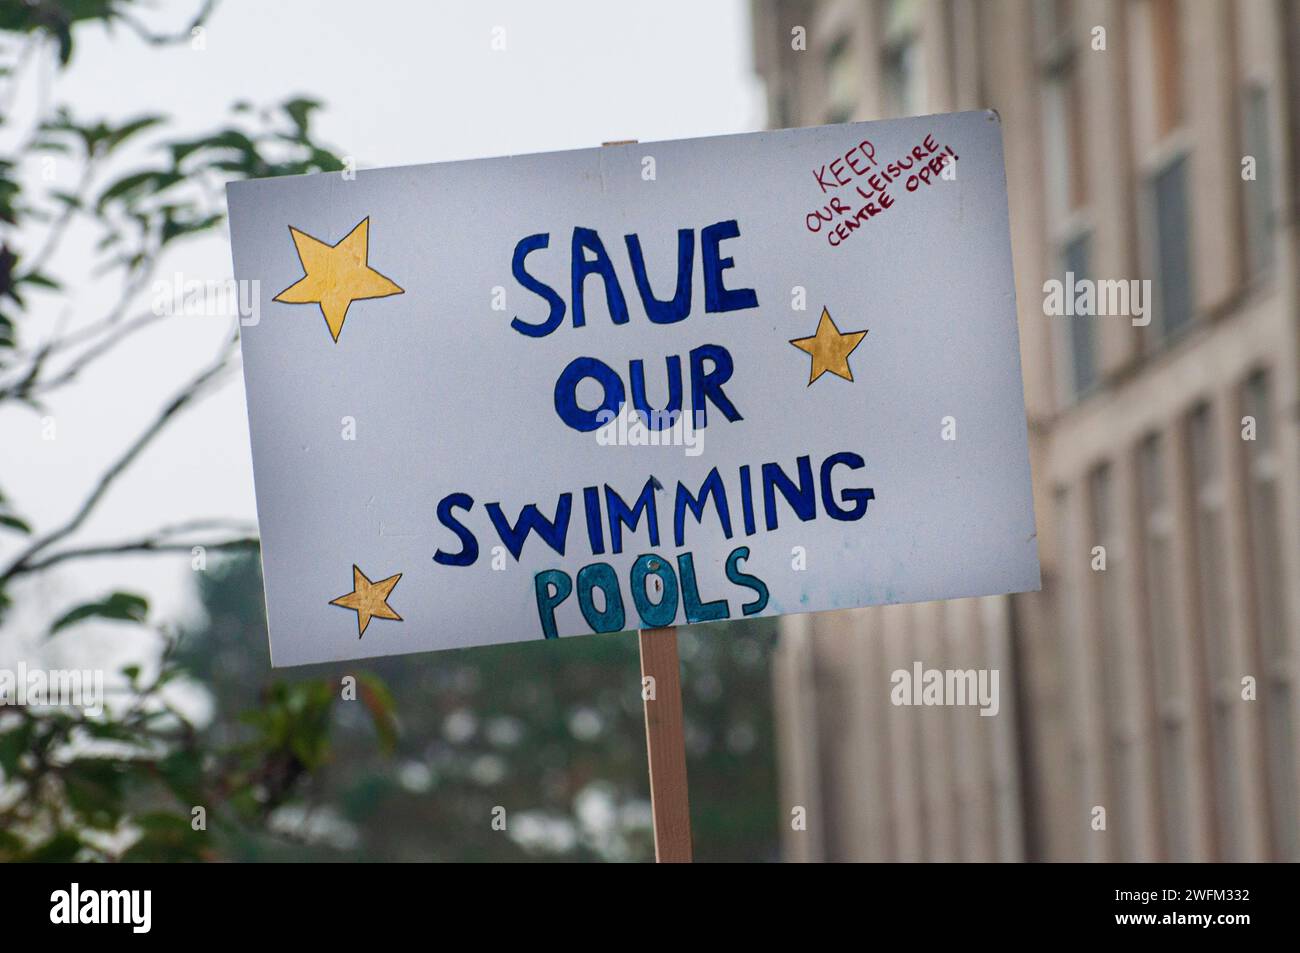
[[[1001,113],[1044,582],[783,619],[786,858],[1300,859],[1300,4],[753,23],[772,126]],[[1045,316],[1066,272],[1153,320]],[[892,705],[914,662],[998,714]]]

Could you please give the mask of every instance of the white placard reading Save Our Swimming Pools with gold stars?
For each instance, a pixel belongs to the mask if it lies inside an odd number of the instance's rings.
[[[1039,585],[993,113],[229,204],[277,666]]]

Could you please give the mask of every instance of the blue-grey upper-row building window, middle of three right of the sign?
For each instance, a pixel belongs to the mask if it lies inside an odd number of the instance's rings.
[[[1187,156],[1167,163],[1150,177],[1150,215],[1156,265],[1156,313],[1161,337],[1169,339],[1192,322],[1192,235],[1187,211]]]

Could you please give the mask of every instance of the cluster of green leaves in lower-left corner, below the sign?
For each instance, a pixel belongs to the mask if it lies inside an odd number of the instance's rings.
[[[0,714],[0,861],[202,861],[222,837],[265,827],[333,757],[337,685],[272,683],[244,714],[251,731],[213,744],[174,702],[174,640],[125,707],[6,707]],[[391,709],[373,709],[387,731]],[[202,823],[198,823],[202,809]]]

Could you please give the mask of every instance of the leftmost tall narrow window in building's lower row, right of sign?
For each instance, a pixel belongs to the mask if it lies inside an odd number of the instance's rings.
[[[1088,476],[1088,508],[1092,521],[1093,546],[1105,547],[1106,563],[1102,571],[1092,572],[1092,592],[1100,636],[1101,719],[1105,724],[1106,779],[1112,809],[1110,831],[1115,850],[1112,859],[1136,859],[1134,828],[1134,789],[1138,768],[1132,763],[1134,745],[1128,732],[1124,692],[1124,647],[1122,624],[1119,559],[1119,520],[1115,514],[1114,481],[1108,464],[1097,467]]]

